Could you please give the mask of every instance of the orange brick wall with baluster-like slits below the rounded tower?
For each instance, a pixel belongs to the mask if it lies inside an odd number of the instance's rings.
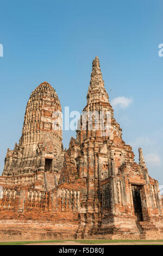
[[[0,219],[51,220],[78,223],[79,188],[60,188],[50,192],[32,188],[4,188],[0,194]]]

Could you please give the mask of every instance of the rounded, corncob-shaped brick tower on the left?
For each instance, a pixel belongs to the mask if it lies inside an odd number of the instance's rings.
[[[58,156],[61,154],[62,131],[53,129],[55,111],[61,111],[58,95],[51,84],[43,82],[29,97],[22,136],[14,151],[7,153],[3,175],[17,175],[28,168],[35,172],[44,168],[43,154],[51,152],[52,159],[55,151],[58,151]],[[54,162],[53,172],[59,170],[60,161],[59,156]]]

